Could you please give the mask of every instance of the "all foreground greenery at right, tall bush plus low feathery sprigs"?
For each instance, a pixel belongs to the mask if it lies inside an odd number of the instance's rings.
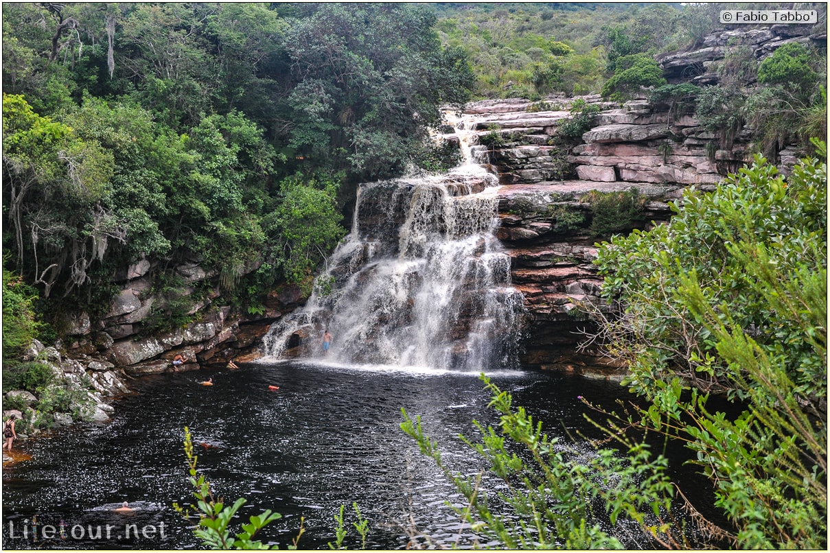
[[[452,470],[420,418],[402,411],[403,431],[465,497],[456,512],[472,531],[507,549],[632,548],[621,541],[632,528],[649,540],[641,549],[827,549],[827,164],[804,160],[788,184],[758,158],[711,195],[686,192],[668,224],[600,248],[603,291],[626,306],[603,322],[615,338],[605,344],[628,363],[624,384],[649,400],[597,409],[598,428],[621,450],[585,455],[558,443],[482,376],[499,424],[475,423],[478,441],[462,439],[499,478],[491,497],[481,475]],[[767,316],[746,318],[748,307]],[[683,357],[695,370],[679,370]],[[713,378],[744,398],[740,415],[710,408],[701,386]],[[629,429],[688,448],[728,525],[696,511],[673,519],[676,507],[693,508],[682,484]],[[510,512],[491,512],[496,501]],[[615,535],[606,522],[626,530]],[[686,532],[716,542],[692,544]]]

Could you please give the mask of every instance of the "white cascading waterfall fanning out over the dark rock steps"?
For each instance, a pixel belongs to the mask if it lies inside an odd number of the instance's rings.
[[[462,143],[466,137],[461,137]],[[523,301],[493,235],[497,179],[470,163],[442,176],[361,185],[351,233],[304,308],[275,323],[269,357],[483,371],[513,366]],[[325,330],[334,336],[322,351]]]

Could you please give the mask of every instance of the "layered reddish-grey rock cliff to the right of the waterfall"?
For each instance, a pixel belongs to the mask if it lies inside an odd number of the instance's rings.
[[[826,40],[821,26],[730,30],[708,36],[699,50],[657,59],[670,82],[715,84],[722,75],[716,61],[737,48],[751,46],[760,61],[791,41],[826,48]],[[710,189],[749,162],[754,133],[737,129],[724,144],[693,114],[671,105],[642,98],[608,104],[594,95],[583,100],[602,111],[574,145],[559,136],[574,100],[479,102],[467,106],[463,119],[480,144],[478,157],[503,185],[498,236],[510,252],[513,283],[528,312],[523,361],[617,378],[615,361],[591,347],[578,348],[594,324],[586,304],[610,308],[599,297],[595,244],[666,221],[669,203],[684,188]],[[799,155],[785,145],[779,170],[789,172]],[[626,202],[636,209],[610,207]],[[610,225],[609,216],[615,221]]]

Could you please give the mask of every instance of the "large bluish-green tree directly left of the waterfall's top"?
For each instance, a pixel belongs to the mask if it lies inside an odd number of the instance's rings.
[[[435,17],[411,4],[305,4],[286,32],[296,85],[289,146],[349,182],[403,172],[439,107],[468,97],[460,51],[442,49]]]

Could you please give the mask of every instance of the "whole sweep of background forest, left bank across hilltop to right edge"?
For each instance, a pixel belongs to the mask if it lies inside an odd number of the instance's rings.
[[[116,269],[154,260],[163,292],[198,262],[261,313],[344,235],[359,182],[455,163],[427,137],[471,98],[648,95],[695,105],[722,142],[751,124],[773,156],[825,138],[826,60],[806,46],[666,84],[654,57],[734,7],[792,5],[6,3],[4,267],[41,311],[95,316]]]

